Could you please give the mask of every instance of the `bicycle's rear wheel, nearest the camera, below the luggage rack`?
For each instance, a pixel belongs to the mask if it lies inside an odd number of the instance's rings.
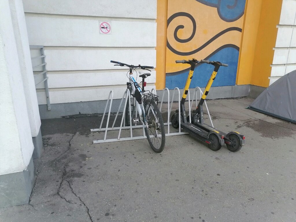
[[[154,101],[146,100],[144,107],[148,124],[148,128],[145,127],[145,134],[153,151],[161,153],[165,147],[163,118]]]

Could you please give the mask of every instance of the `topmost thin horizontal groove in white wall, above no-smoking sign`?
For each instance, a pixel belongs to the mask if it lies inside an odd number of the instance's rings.
[[[76,18],[76,19],[97,19],[102,21],[125,21],[125,22],[156,22],[156,18],[132,18],[132,17],[105,17],[95,15],[68,15],[68,14],[52,14],[52,13],[39,13],[39,12],[25,12],[25,15],[36,17],[63,17],[63,18]]]

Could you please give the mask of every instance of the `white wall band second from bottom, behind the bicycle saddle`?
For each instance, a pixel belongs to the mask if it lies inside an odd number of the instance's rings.
[[[103,72],[103,73],[63,73],[63,74],[47,74],[49,88],[64,88],[64,87],[81,87],[81,86],[112,86],[125,85],[128,82],[126,77],[127,71],[124,72]],[[138,73],[138,83],[142,81]],[[136,78],[136,73],[134,77]],[[36,78],[37,80],[37,78]],[[61,81],[63,80],[63,81]],[[145,79],[147,83],[155,83],[156,72],[152,71],[151,76]],[[36,81],[37,83],[37,81]],[[39,89],[44,88],[42,83]]]

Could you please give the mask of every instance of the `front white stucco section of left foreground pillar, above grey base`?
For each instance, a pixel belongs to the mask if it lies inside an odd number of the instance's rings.
[[[9,1],[0,1],[0,174],[25,170],[34,149]]]

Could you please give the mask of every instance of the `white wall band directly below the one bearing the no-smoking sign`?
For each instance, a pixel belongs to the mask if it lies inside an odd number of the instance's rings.
[[[47,70],[105,70],[113,66],[110,60],[134,65],[156,65],[155,50],[45,49]]]

